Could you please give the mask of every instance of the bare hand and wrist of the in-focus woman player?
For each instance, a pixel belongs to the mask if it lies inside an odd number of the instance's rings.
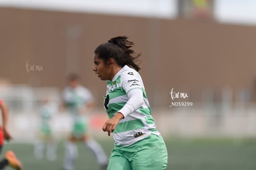
[[[117,112],[111,119],[105,122],[102,129],[104,132],[108,132],[110,136],[111,132],[114,132],[116,125],[119,123],[121,119],[124,119],[124,115],[122,113]]]

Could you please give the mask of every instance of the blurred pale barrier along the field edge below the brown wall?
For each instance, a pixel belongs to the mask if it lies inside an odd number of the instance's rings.
[[[230,92],[230,91],[229,91]],[[229,93],[228,92],[228,93]],[[226,96],[227,91],[223,91]],[[71,128],[70,114],[59,111],[61,102],[58,88],[16,86],[1,89],[1,98],[9,105],[11,123],[9,128],[17,142],[32,142],[40,125],[40,103],[46,98],[55,108],[51,120],[56,140],[67,137]],[[208,95],[208,94],[204,94]],[[192,107],[153,109],[158,129],[166,137],[255,137],[255,106],[245,102],[231,103],[223,98],[220,103],[204,100]],[[107,119],[103,109],[87,114],[90,133],[105,137],[101,126]]]

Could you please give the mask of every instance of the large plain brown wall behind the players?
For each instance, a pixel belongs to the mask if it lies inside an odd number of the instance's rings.
[[[187,91],[191,101],[207,89],[221,100],[224,87],[237,100],[246,88],[254,101],[256,27],[203,20],[0,8],[0,77],[62,89],[66,75],[79,72],[101,106],[105,82],[92,71],[93,51],[117,35],[129,36],[142,53],[140,73],[155,108],[168,108],[171,88]]]

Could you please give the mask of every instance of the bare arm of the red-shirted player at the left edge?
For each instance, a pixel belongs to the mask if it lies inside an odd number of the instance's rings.
[[[2,100],[0,100],[0,108],[2,111],[2,131],[4,132],[4,138],[6,140],[12,139],[9,131],[7,130],[7,122],[8,122],[8,107],[6,103],[4,103]]]

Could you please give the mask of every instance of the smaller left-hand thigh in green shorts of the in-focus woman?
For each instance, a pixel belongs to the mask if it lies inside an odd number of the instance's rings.
[[[132,170],[132,168],[128,159],[113,150],[109,158],[108,170]]]

